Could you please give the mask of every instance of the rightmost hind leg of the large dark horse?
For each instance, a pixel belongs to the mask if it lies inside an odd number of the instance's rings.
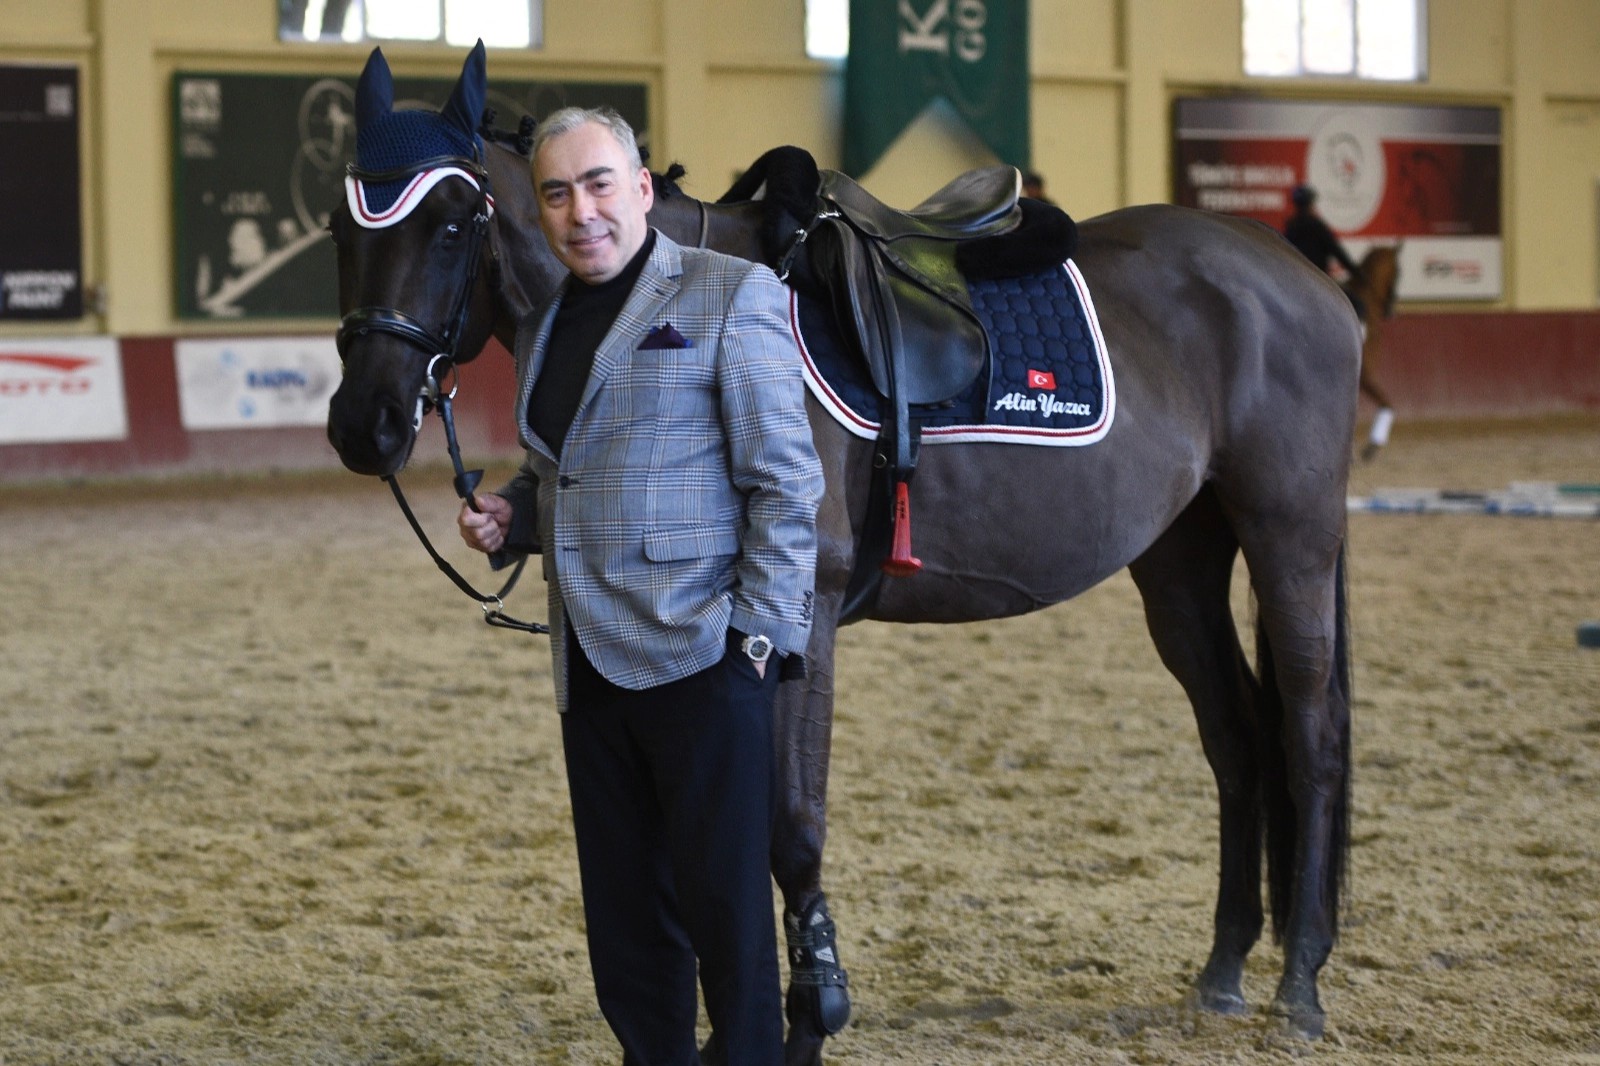
[[[1341,511],[1342,495],[1341,485]],[[1283,941],[1272,1010],[1309,1039],[1325,1024],[1317,975],[1338,935],[1349,853],[1344,523],[1342,515],[1322,514],[1330,507],[1314,506],[1291,525],[1282,517],[1235,523],[1258,605],[1267,879],[1272,927]]]

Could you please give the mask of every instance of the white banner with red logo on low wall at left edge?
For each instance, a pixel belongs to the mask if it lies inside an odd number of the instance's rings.
[[[117,339],[0,339],[0,445],[126,440]]]

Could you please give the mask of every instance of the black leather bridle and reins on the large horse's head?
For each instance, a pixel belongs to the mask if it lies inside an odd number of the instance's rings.
[[[456,397],[456,386],[451,384],[451,387],[445,391],[445,379],[446,376],[454,375],[456,367],[461,362],[461,338],[466,333],[472,293],[478,283],[483,243],[490,240],[490,205],[493,192],[490,190],[488,168],[474,158],[461,155],[437,155],[434,158],[426,158],[410,166],[400,166],[395,170],[366,170],[350,163],[347,171],[350,178],[355,178],[357,181],[381,184],[390,181],[408,181],[418,174],[443,166],[464,170],[477,178],[478,182],[478,200],[475,210],[472,211],[470,229],[467,230],[466,271],[461,279],[461,288],[451,301],[443,325],[435,333],[414,315],[410,315],[398,307],[357,307],[339,320],[336,344],[339,349],[339,360],[342,362],[344,352],[354,338],[368,336],[371,333],[387,333],[429,355],[427,370],[422,375],[422,387],[418,391],[416,397],[416,411],[411,416],[413,443],[416,440],[416,434],[422,429],[422,418],[427,416],[429,411],[437,410],[440,421],[445,423],[445,442],[450,450],[450,463],[456,471],[456,495],[464,499],[469,507],[477,511],[478,504],[474,498],[474,491],[477,490],[478,482],[483,480],[483,471],[467,471],[462,467],[461,447],[456,442],[456,416],[451,410],[451,402]],[[494,251],[493,243],[490,245],[490,282],[493,285],[498,282],[499,272],[499,254]],[[517,579],[522,576],[522,570],[528,563],[526,555],[517,560],[517,567],[512,570],[510,578],[506,579],[506,584],[501,586],[499,592],[478,592],[472,587],[470,581],[462,578],[456,568],[438,554],[432,541],[427,539],[427,533],[422,531],[422,525],[416,520],[416,515],[411,512],[411,506],[406,503],[405,493],[400,490],[398,477],[386,474],[382,480],[389,483],[389,490],[394,493],[395,503],[400,504],[400,512],[411,525],[411,531],[416,533],[416,538],[422,541],[422,547],[427,549],[429,557],[445,573],[445,576],[456,584],[458,589],[478,602],[483,608],[485,623],[501,629],[518,629],[522,632],[550,632],[550,627],[542,623],[518,621],[506,615],[506,595],[510,594]]]

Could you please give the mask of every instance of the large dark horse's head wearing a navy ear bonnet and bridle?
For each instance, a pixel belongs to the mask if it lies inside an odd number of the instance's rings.
[[[494,197],[478,118],[483,45],[440,112],[394,110],[376,48],[355,91],[355,163],[330,219],[339,261],[344,381],[328,440],[357,474],[394,474],[424,400],[482,351],[494,322]]]

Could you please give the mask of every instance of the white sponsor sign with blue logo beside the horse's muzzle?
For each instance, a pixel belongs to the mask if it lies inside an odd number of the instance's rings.
[[[322,426],[339,387],[331,336],[178,341],[184,429]]]

